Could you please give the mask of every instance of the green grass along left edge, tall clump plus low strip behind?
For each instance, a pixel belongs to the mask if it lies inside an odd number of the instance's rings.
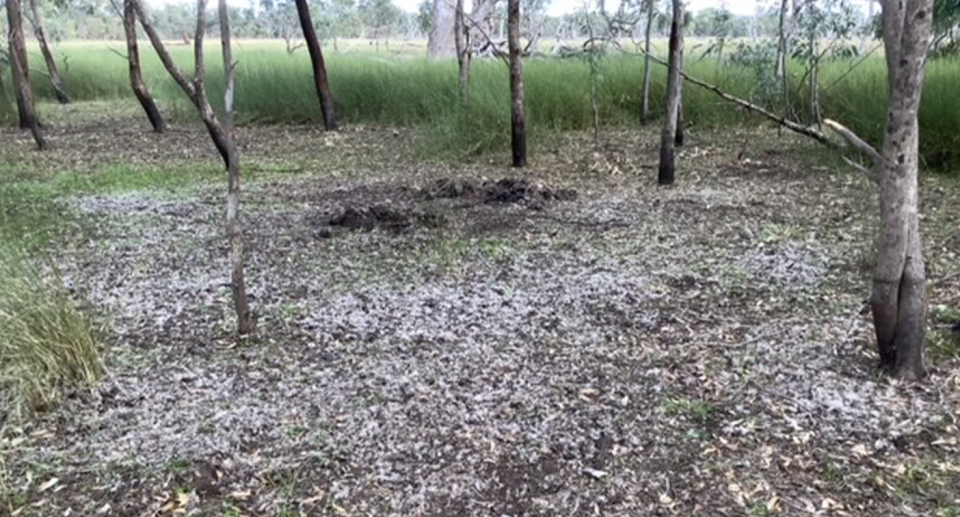
[[[218,167],[104,166],[92,172],[22,171],[0,165],[0,404],[28,415],[102,375],[100,332],[42,257],[58,235],[85,229],[59,203],[67,195],[161,189],[175,192]]]

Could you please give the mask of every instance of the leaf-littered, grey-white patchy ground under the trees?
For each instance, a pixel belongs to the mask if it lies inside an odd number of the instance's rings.
[[[423,161],[408,129],[241,128],[237,339],[202,128],[45,111],[53,150],[0,153],[78,186],[47,253],[109,375],[7,422],[0,515],[960,515],[956,180],[924,178],[908,385],[864,311],[875,187],[814,144],[693,128],[663,188],[654,127],[522,171]]]

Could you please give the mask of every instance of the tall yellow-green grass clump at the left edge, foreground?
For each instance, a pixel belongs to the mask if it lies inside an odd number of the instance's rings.
[[[11,414],[53,406],[104,374],[95,325],[56,276],[0,249],[0,402]]]

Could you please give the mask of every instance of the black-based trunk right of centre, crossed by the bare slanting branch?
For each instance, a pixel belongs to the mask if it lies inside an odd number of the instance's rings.
[[[677,122],[680,117],[681,78],[683,60],[683,2],[673,0],[673,21],[670,24],[670,59],[667,71],[667,112],[660,132],[660,169],[657,181],[671,185],[676,178]]]

